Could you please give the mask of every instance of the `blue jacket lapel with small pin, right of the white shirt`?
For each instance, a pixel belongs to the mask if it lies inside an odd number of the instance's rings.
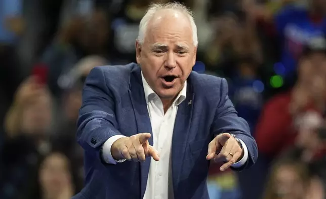
[[[191,83],[188,78],[187,97],[178,107],[178,112],[173,129],[172,178],[174,195],[176,195],[176,191],[178,189],[177,185],[180,180],[181,169],[183,168],[182,164],[191,125],[194,96],[195,94],[192,92]]]

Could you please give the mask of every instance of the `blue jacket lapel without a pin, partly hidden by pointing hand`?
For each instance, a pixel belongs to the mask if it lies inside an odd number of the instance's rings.
[[[152,136],[148,142],[153,146],[152,127],[148,115],[140,67],[136,67],[132,71],[129,94],[134,108],[138,133],[149,132]],[[143,198],[146,190],[150,158],[151,157],[147,157],[145,162],[140,162],[141,198]]]

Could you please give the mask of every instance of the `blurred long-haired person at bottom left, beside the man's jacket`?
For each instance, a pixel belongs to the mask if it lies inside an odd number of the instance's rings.
[[[70,199],[76,190],[72,164],[57,150],[40,162],[35,180],[26,199]]]

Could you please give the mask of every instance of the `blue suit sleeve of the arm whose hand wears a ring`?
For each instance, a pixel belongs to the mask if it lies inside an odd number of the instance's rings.
[[[246,120],[238,117],[228,97],[228,86],[225,79],[222,79],[220,84],[220,102],[217,106],[211,129],[214,136],[223,132],[229,132],[246,144],[249,153],[248,160],[243,167],[237,168],[236,170],[251,167],[256,162],[258,157],[256,141],[250,134],[249,125]]]

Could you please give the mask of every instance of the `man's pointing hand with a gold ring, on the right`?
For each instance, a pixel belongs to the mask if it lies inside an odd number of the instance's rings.
[[[236,139],[228,133],[220,134],[208,145],[207,160],[225,162],[220,171],[225,171],[243,157],[243,149]]]

